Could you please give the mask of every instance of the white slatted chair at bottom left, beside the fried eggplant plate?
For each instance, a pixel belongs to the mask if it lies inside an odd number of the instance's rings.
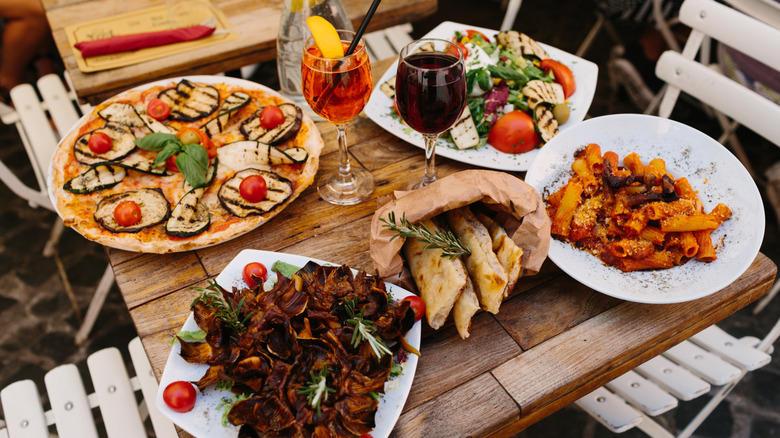
[[[0,438],[49,438],[50,426],[54,426],[61,438],[97,438],[101,427],[109,438],[146,437],[147,416],[155,436],[178,437],[173,423],[155,404],[157,378],[141,340],[130,341],[128,349],[136,373],[132,378],[115,347],[97,351],[87,358],[95,391],[89,395],[76,365],[60,365],[46,373],[49,410],[42,405],[32,380],[21,380],[3,388],[0,405],[5,424],[0,420]],[[143,397],[140,405],[135,395],[139,390]],[[102,426],[95,422],[94,408],[99,408]]]

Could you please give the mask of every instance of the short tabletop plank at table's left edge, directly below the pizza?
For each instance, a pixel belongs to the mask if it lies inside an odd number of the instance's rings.
[[[193,252],[144,254],[113,268],[117,285],[130,310],[206,278],[206,272]]]

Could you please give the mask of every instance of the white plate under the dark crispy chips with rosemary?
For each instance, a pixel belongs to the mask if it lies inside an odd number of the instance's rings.
[[[320,265],[331,265],[309,257],[276,253],[270,251],[258,251],[246,249],[241,251],[225,269],[217,276],[216,281],[221,287],[231,290],[233,286],[246,287],[241,279],[241,272],[248,263],[260,262],[266,267],[271,268],[275,261],[280,260],[295,266],[303,267],[307,262],[313,261]],[[352,271],[356,271],[353,269]],[[275,278],[276,274],[269,272],[270,278]],[[385,283],[387,290],[395,299],[402,299],[412,295],[406,289],[400,288],[390,283]],[[182,330],[198,330],[197,324],[193,319],[192,313],[182,326]],[[420,322],[416,322],[411,330],[406,333],[406,340],[418,350],[420,349]],[[179,355],[181,351],[180,344],[176,342],[171,348],[168,361],[165,364],[163,375],[160,378],[160,387],[157,391],[157,407],[177,426],[186,430],[196,437],[208,438],[235,438],[238,436],[238,428],[235,426],[222,426],[222,411],[217,410],[216,406],[222,397],[232,395],[229,391],[216,390],[213,387],[207,388],[204,392],[198,394],[198,400],[195,408],[190,412],[174,412],[162,400],[162,393],[168,384],[176,380],[198,381],[208,365],[190,364],[184,361]],[[406,397],[412,387],[414,373],[417,369],[417,356],[410,354],[404,365],[404,372],[398,378],[385,383],[385,394],[379,399],[379,408],[376,412],[376,427],[371,432],[374,438],[387,437],[393,429],[395,422],[401,415],[401,410],[406,403]]]

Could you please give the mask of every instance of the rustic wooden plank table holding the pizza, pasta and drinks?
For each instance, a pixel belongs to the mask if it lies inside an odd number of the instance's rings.
[[[375,64],[375,77],[389,65]],[[321,171],[338,166],[335,130],[319,124],[326,143]],[[376,178],[374,198],[423,172],[424,153],[364,116],[348,129],[350,151]],[[468,166],[447,159],[439,176]],[[310,187],[268,224],[221,245],[149,255],[108,249],[119,289],[157,376],[168,341],[189,314],[196,292],[242,249],[306,255],[374,272],[369,224],[375,199],[337,207]],[[577,283],[552,262],[522,279],[493,316],[481,312],[471,337],[453,326],[424,333],[422,358],[396,436],[509,435],[720,321],[764,295],[776,266],[759,254],[737,281],[708,297],[648,305],[610,298]]]

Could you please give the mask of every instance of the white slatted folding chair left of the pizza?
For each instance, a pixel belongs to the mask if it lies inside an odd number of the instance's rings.
[[[33,188],[25,184],[2,161],[0,161],[0,180],[19,197],[26,199],[31,207],[44,207],[54,211],[54,206],[49,199],[47,185],[49,161],[57,147],[60,136],[70,130],[78,121],[80,115],[74,105],[75,95],[68,93],[59,76],[55,74],[46,75],[38,80],[37,87],[43,100],[38,98],[38,93],[31,84],[18,85],[11,90],[11,100],[14,108],[4,106],[0,112],[2,113],[3,123],[16,125],[35,173],[38,187]],[[81,109],[88,109],[88,107]],[[52,128],[49,122],[50,119],[54,122],[56,131]],[[54,256],[66,292],[75,306],[75,297],[55,248],[63,228],[62,221],[57,218],[43,254],[46,257]],[[81,327],[76,333],[75,341],[77,344],[81,344],[86,340],[113,281],[113,272],[111,271],[111,266],[108,265],[95,290]],[[76,308],[78,309],[77,306]]]

